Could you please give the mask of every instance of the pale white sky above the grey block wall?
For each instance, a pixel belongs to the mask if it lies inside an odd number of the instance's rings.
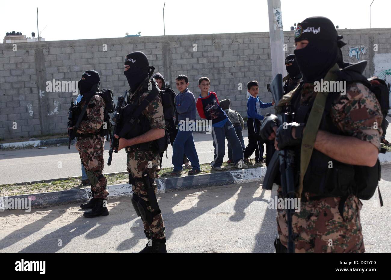
[[[1,1],[0,41],[6,32],[37,34],[46,41],[124,37],[125,33],[210,34],[267,32],[267,0],[97,0],[97,1]],[[369,28],[372,0],[281,0],[283,30],[290,30],[309,16],[326,16],[339,29]],[[374,0],[371,28],[391,27],[391,1]]]

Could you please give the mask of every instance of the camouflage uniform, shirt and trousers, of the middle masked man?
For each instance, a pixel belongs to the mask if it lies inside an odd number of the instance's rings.
[[[148,95],[148,91],[140,95],[138,104],[145,99]],[[129,100],[134,94],[130,93]],[[143,114],[147,117],[151,129],[165,129],[165,121],[163,117],[163,105],[161,104],[161,98],[158,94],[154,100],[144,109]],[[149,175],[151,185],[154,188],[155,194],[157,190],[155,178],[158,178],[157,169],[159,168],[160,155],[158,152],[151,150],[135,150],[127,153],[127,171],[129,172],[129,178],[135,179],[135,184],[132,184],[133,193],[137,194],[140,199],[145,200],[149,205],[149,199],[147,197],[146,188],[142,179],[142,174],[146,171]],[[147,209],[152,213],[151,206],[147,206]],[[165,238],[164,221],[161,214],[154,216],[152,224],[147,221],[143,221],[145,234],[156,239]]]

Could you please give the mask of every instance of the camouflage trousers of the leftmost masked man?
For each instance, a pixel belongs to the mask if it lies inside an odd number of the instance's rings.
[[[98,182],[95,186],[91,185],[94,198],[106,199],[109,194],[106,186],[107,179],[103,176],[103,147],[104,137],[91,136],[87,138],[79,138],[76,142],[76,149],[79,151],[81,162],[86,171],[92,172],[98,177]]]

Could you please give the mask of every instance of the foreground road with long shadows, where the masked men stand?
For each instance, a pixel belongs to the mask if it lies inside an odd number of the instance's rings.
[[[366,252],[391,252],[391,165],[382,169],[384,206],[375,207],[375,192],[361,211]],[[275,195],[259,182],[161,194],[168,251],[274,252],[276,213],[267,199]],[[92,219],[78,205],[0,212],[0,253],[141,250],[146,239],[130,199],[109,200],[108,209],[109,216]]]

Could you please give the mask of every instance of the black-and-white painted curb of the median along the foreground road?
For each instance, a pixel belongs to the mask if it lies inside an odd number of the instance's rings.
[[[391,163],[391,152],[379,154],[381,165]],[[157,179],[157,193],[168,193],[197,189],[206,186],[218,186],[229,184],[244,184],[248,182],[263,182],[266,167],[249,168],[242,170],[230,170],[194,176],[172,177]],[[132,195],[132,187],[129,184],[109,185],[108,200]],[[90,195],[90,188],[71,189],[48,193],[21,194],[16,196],[0,197],[0,211],[9,210],[5,207],[5,201],[30,200],[31,208],[45,208],[52,205],[85,202]],[[8,204],[7,204],[8,205]]]

